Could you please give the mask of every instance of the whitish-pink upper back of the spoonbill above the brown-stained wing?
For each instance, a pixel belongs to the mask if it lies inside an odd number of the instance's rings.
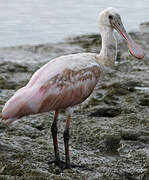
[[[44,84],[46,81],[61,74],[65,69],[79,71],[81,69],[97,66],[95,54],[78,53],[55,58],[36,71],[26,87],[36,84]]]

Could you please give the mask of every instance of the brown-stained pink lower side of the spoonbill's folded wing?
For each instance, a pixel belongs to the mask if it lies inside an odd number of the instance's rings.
[[[83,102],[92,93],[99,76],[97,66],[80,71],[65,69],[40,87],[44,98],[38,112],[67,108]]]

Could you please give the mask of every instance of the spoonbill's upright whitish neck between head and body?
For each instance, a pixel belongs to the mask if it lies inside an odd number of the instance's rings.
[[[113,66],[117,56],[117,44],[113,29],[110,27],[102,27],[100,34],[102,38],[102,48],[100,54],[97,56],[97,60],[105,66]]]

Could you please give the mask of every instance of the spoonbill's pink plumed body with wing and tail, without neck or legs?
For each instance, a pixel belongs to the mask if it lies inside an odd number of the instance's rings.
[[[15,118],[79,104],[91,94],[99,76],[99,65],[94,54],[77,54],[52,60],[8,100],[2,110],[2,118]]]

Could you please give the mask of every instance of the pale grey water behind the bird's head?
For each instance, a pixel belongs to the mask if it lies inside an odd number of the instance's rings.
[[[119,10],[128,31],[148,21],[149,0],[0,0],[0,46],[97,33],[98,13],[110,6]]]

